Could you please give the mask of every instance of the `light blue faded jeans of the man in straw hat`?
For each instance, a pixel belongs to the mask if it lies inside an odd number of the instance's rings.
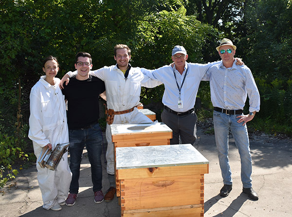
[[[252,156],[246,125],[237,123],[238,115],[227,115],[213,111],[215,140],[218,149],[219,164],[224,184],[232,184],[231,169],[228,159],[229,129],[238,148],[241,162],[241,182],[244,188],[252,187]]]

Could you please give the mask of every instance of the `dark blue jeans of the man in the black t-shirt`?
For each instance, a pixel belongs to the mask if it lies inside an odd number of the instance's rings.
[[[93,192],[102,189],[102,134],[99,124],[95,124],[88,129],[70,129],[69,130],[69,152],[70,169],[72,172],[72,181],[70,184],[70,193],[78,194],[80,163],[84,146],[88,152],[88,159],[91,164],[91,180],[93,183]]]

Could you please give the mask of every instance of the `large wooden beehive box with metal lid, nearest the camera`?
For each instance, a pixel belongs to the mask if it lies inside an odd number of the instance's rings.
[[[190,144],[116,148],[122,217],[202,217],[209,161]]]

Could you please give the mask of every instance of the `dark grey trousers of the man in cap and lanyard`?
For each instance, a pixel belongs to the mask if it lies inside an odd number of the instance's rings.
[[[172,129],[171,145],[180,144],[180,137],[182,144],[194,145],[197,138],[197,115],[195,111],[187,115],[178,116],[164,109],[161,114],[161,120]]]

